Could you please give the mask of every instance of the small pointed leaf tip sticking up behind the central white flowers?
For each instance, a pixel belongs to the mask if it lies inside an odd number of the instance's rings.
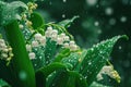
[[[79,16],[73,16],[71,20],[64,20],[60,23],[58,23],[59,25],[63,26],[64,28],[69,28],[70,25],[74,22],[74,20],[76,20]]]

